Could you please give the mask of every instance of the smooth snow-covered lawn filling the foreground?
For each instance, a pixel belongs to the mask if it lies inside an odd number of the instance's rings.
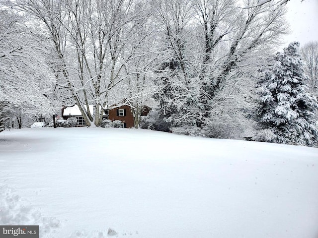
[[[6,130],[5,224],[40,224],[41,237],[54,238],[318,238],[318,148],[135,129]]]

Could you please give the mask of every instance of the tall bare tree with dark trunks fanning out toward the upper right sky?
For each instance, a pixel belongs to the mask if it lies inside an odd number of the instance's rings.
[[[247,0],[248,4],[257,1]],[[201,41],[204,57],[195,68],[200,77],[202,127],[209,118],[214,97],[222,91],[231,74],[239,64],[266,54],[287,32],[284,20],[285,9],[263,4],[248,9],[239,9],[236,0],[195,0],[196,15],[201,26]]]

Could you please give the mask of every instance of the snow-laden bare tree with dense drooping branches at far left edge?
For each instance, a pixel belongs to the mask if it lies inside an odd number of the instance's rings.
[[[52,112],[54,77],[45,47],[25,25],[25,18],[0,11],[0,111],[10,119]]]

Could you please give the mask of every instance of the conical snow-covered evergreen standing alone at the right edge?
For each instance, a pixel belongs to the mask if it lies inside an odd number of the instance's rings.
[[[291,43],[277,53],[259,81],[257,121],[261,130],[257,141],[314,146],[318,129],[314,112],[317,98],[306,93],[299,43]]]

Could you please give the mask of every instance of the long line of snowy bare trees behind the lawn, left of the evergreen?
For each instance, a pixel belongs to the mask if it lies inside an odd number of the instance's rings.
[[[76,104],[86,125],[100,126],[100,108],[116,103],[133,108],[136,124],[155,129],[218,138],[251,135],[258,70],[270,64],[288,30],[284,5],[257,3],[246,0],[253,7],[242,8],[239,0],[1,1],[7,10],[0,34],[17,40],[0,41],[0,63],[15,65],[19,75],[4,72],[0,79],[0,110],[19,117]],[[16,50],[20,58],[12,58]],[[25,75],[25,69],[32,73]],[[29,93],[25,101],[20,89]],[[158,107],[141,120],[150,101]],[[86,110],[91,104],[94,114]]]

